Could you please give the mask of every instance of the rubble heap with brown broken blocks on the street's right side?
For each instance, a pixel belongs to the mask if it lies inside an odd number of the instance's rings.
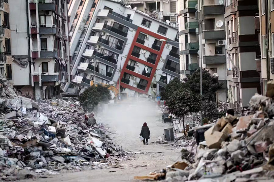
[[[205,141],[184,142],[182,161],[136,179],[258,181],[274,178],[274,100],[256,94],[241,117],[228,115],[204,132]],[[195,154],[196,153],[196,154]]]

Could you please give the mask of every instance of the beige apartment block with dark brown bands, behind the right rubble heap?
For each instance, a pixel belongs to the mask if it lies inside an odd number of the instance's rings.
[[[261,93],[256,71],[261,55],[259,31],[254,18],[258,13],[257,0],[225,1],[228,102],[235,112],[248,107],[251,97]]]

